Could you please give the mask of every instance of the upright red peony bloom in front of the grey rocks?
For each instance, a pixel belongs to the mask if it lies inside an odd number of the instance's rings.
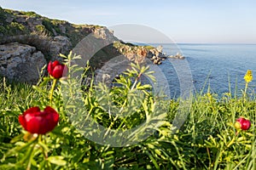
[[[47,68],[49,75],[55,78],[61,78],[67,75],[67,66],[61,64],[59,61],[49,61]]]

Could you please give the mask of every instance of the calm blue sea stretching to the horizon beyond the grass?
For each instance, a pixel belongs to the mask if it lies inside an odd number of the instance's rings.
[[[253,71],[254,80],[250,82],[250,90],[254,90],[256,79],[256,44],[154,44],[162,45],[166,54],[182,53],[191,71],[196,92],[204,93],[210,86],[211,92],[224,94],[229,92],[229,84],[232,94],[237,89],[244,88],[244,75],[248,69]],[[172,95],[179,95],[180,82],[177,71],[173,68],[173,62],[184,62],[179,59],[169,59],[160,65],[169,83]]]

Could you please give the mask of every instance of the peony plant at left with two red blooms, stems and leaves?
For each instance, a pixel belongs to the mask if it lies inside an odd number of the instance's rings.
[[[1,161],[9,160],[11,156],[15,156],[16,159],[13,161],[10,159],[11,161],[7,165],[3,164],[1,168],[51,169],[52,164],[66,165],[63,156],[49,156],[49,146],[52,144],[49,142],[51,141],[49,133],[57,126],[59,122],[57,111],[60,111],[60,107],[54,105],[60,101],[56,95],[55,86],[57,81],[65,76],[66,70],[66,65],[61,65],[59,61],[49,62],[50,77],[44,77],[38,86],[33,86],[36,90],[35,93],[39,94],[37,101],[32,101],[32,107],[30,106],[28,109],[19,106],[20,111],[26,110],[19,116],[20,125],[24,127],[25,131],[10,141],[15,144],[15,147],[8,150]],[[51,88],[49,84],[51,84]],[[55,102],[53,102],[53,98],[55,98]]]

